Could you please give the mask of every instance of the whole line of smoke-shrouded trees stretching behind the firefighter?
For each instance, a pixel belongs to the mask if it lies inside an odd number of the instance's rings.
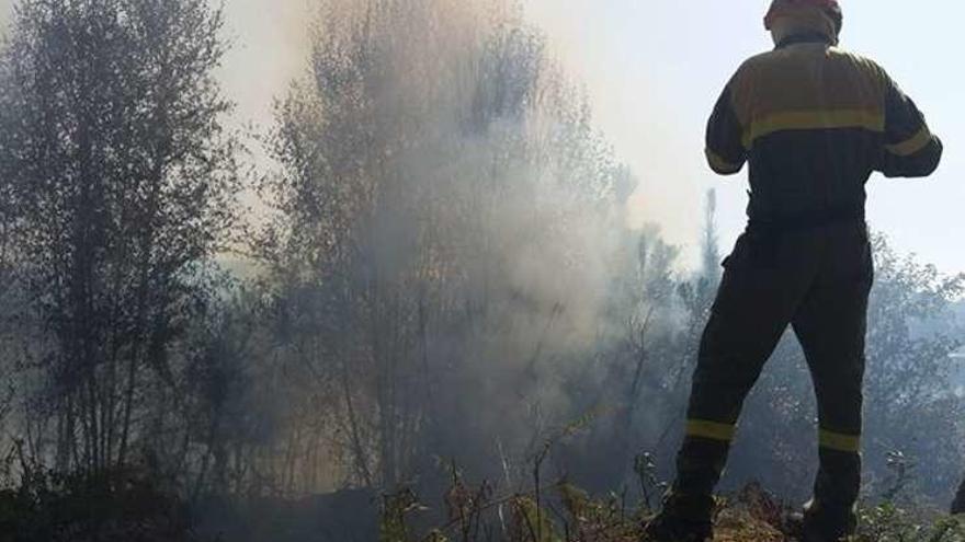
[[[719,280],[713,198],[695,272],[627,229],[635,177],[512,1],[318,13],[257,135],[272,165],[251,170],[215,77],[219,9],[19,3],[0,55],[8,484],[134,465],[192,500],[435,492],[457,465],[512,491],[534,459],[595,492],[637,487],[647,458],[666,476]],[[867,492],[950,500],[965,279],[875,252]],[[733,483],[808,493],[809,385],[782,343]]]

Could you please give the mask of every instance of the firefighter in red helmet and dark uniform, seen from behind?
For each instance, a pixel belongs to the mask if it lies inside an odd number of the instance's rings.
[[[748,163],[749,221],[724,262],[677,478],[647,526],[648,540],[712,538],[712,494],[741,405],[788,325],[804,348],[820,426],[804,540],[853,532],[873,278],[864,186],[874,171],[930,175],[942,155],[941,141],[885,70],[838,48],[836,0],[775,0],[764,24],[776,48],[740,67],[707,127],[716,173],[733,175]]]

